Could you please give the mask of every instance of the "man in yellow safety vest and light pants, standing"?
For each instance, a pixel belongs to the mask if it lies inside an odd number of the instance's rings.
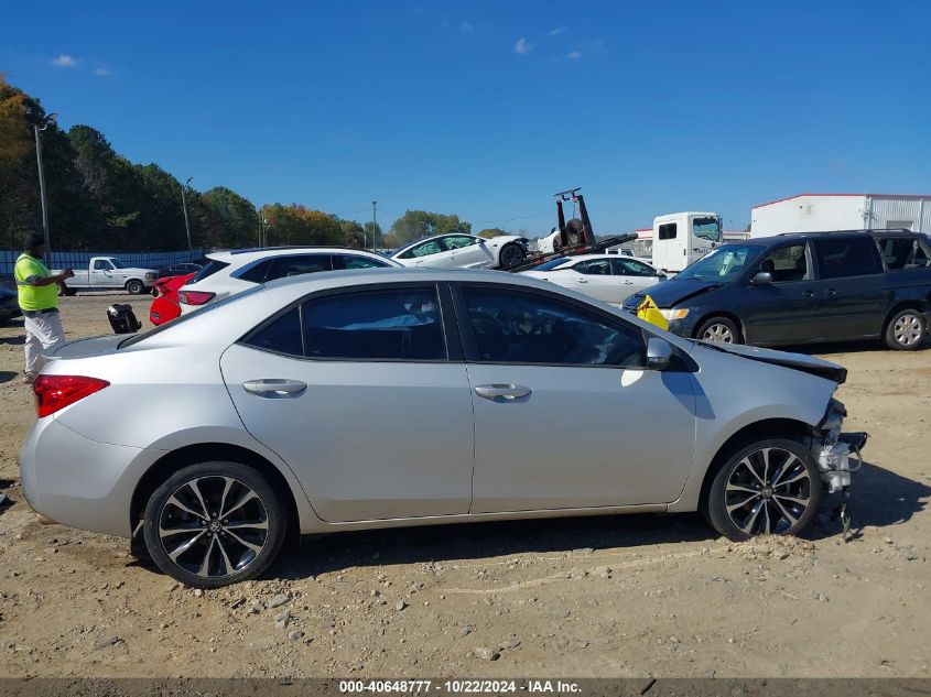
[[[25,250],[17,259],[13,275],[17,279],[17,294],[23,311],[25,326],[25,372],[23,384],[32,384],[42,370],[47,351],[65,340],[62,318],[58,315],[58,284],[74,276],[71,269],[53,274],[42,263],[45,255],[45,238],[30,235],[23,243]]]

